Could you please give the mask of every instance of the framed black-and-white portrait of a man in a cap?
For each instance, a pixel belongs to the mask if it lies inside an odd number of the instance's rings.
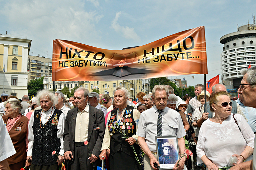
[[[173,169],[180,158],[177,136],[156,136],[157,160],[161,169]]]

